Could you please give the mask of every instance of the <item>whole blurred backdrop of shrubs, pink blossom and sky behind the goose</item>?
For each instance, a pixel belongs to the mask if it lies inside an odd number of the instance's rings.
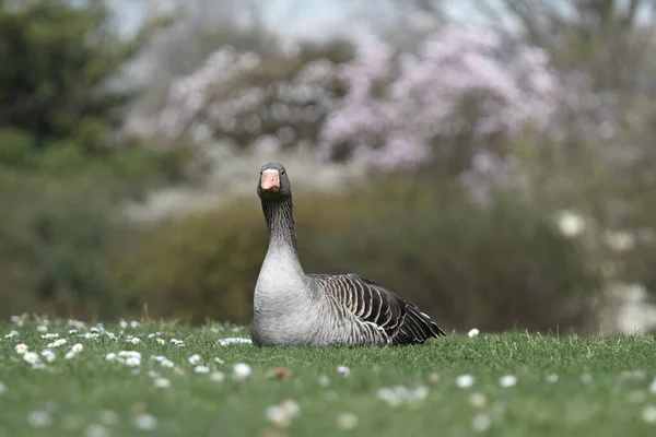
[[[0,316],[247,323],[307,272],[443,328],[656,328],[653,0],[0,0]]]

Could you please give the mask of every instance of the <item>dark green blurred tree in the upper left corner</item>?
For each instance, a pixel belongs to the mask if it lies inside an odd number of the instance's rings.
[[[110,81],[161,24],[126,40],[98,0],[1,2],[0,128],[31,132],[38,147],[73,139],[96,149],[134,96]]]

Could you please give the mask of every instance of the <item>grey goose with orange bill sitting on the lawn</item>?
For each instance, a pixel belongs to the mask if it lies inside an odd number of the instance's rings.
[[[254,294],[256,346],[385,346],[446,335],[417,306],[353,273],[305,274],[298,258],[292,187],[280,163],[261,167],[257,193],[269,247]]]

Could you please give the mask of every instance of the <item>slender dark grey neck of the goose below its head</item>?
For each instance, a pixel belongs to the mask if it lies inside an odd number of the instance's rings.
[[[300,271],[298,245],[292,198],[262,200],[262,211],[269,229],[269,253],[278,252],[289,257]]]

